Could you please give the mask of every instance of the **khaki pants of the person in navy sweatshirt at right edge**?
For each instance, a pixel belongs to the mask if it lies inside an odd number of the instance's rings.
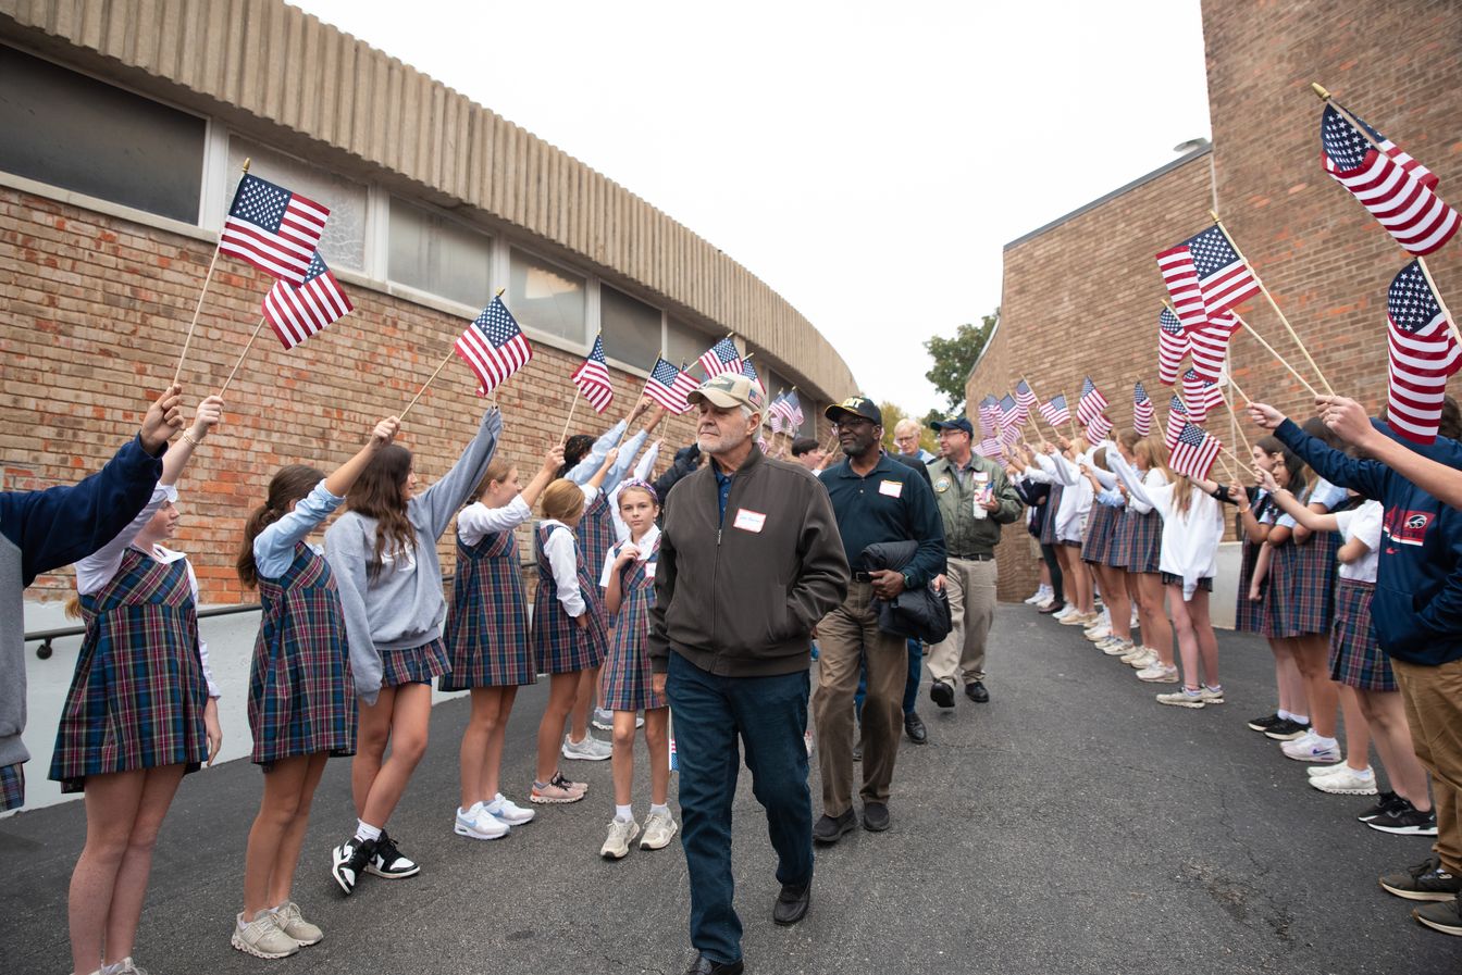
[[[1437,842],[1431,845],[1450,874],[1462,874],[1462,661],[1421,667],[1390,659],[1406,703],[1411,746],[1431,773]]]

